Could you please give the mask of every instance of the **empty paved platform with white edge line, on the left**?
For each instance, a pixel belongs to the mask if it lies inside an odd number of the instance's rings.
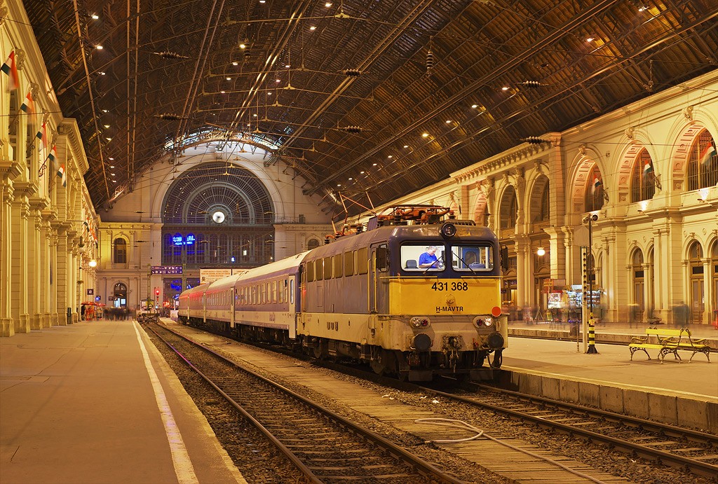
[[[0,482],[245,483],[135,321],[0,338]]]

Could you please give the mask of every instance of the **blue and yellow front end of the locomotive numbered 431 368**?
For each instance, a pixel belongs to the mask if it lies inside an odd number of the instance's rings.
[[[500,368],[508,323],[493,232],[458,222],[406,227],[394,232],[388,253],[396,269],[385,274],[380,344],[401,352],[399,374],[472,374],[486,359]]]

